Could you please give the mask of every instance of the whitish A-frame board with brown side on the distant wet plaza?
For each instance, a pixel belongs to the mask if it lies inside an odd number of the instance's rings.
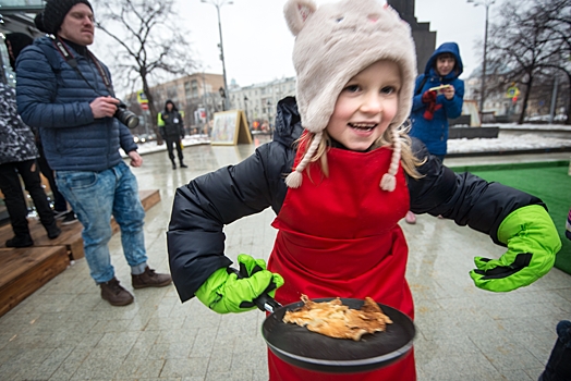
[[[210,144],[235,146],[236,144],[252,144],[252,135],[246,124],[246,115],[242,110],[216,112],[210,134]]]

